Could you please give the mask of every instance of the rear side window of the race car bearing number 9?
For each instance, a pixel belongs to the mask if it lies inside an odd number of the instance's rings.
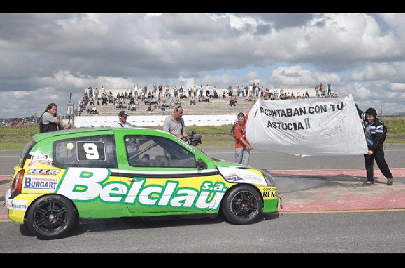
[[[69,138],[53,144],[56,167],[117,167],[113,135]]]

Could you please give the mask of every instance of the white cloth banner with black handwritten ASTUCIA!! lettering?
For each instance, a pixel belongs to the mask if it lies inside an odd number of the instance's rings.
[[[343,99],[257,100],[246,135],[253,148],[295,155],[367,154],[352,96]]]

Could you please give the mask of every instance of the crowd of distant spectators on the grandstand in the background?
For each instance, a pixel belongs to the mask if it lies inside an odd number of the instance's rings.
[[[140,104],[146,106],[146,112],[155,110],[166,111],[174,106],[181,105],[182,102],[195,105],[196,103],[210,103],[213,99],[223,99],[224,104],[235,107],[240,100],[253,102],[257,98],[264,100],[289,100],[301,98],[338,98],[338,95],[331,90],[331,83],[323,87],[322,83],[315,85],[312,96],[307,90],[285,90],[283,88],[273,90],[260,86],[259,83],[251,82],[249,85],[228,86],[225,90],[217,90],[216,86],[174,86],[153,84],[152,88],[144,86],[134,86],[134,89],[117,92],[107,91],[104,86],[100,90],[91,86],[85,89],[79,105],[75,107],[75,115],[98,114],[98,106],[113,106],[117,110],[137,111]],[[173,94],[173,95],[172,95]],[[187,101],[185,101],[188,99]],[[143,110],[143,109],[142,109]]]

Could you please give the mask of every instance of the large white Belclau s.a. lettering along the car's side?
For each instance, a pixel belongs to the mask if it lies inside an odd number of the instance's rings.
[[[181,188],[179,182],[167,181],[164,186],[147,185],[138,178],[130,185],[108,182],[107,169],[68,168],[58,189],[58,194],[74,201],[95,201],[116,204],[141,204],[143,206],[171,206],[198,209],[216,209],[228,189],[223,183],[204,182],[195,188]]]

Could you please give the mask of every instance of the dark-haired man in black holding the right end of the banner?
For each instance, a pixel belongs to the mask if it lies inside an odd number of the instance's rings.
[[[383,143],[386,132],[384,129],[384,123],[377,118],[377,111],[374,108],[369,108],[364,113],[358,108],[357,104],[356,108],[358,115],[363,120],[363,129],[366,136],[367,147],[369,149],[367,154],[364,155],[367,170],[367,182],[363,183],[363,185],[367,186],[374,184],[374,159],[376,160],[381,173],[387,178],[387,185],[392,185],[392,174],[384,158]]]

